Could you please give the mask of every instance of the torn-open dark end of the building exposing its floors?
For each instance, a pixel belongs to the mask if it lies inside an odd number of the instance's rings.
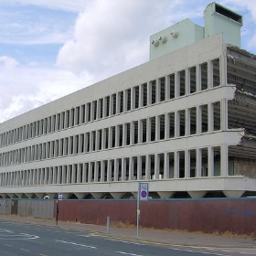
[[[240,142],[229,145],[229,175],[256,178],[256,56],[227,48],[227,83],[235,87],[228,101],[228,129],[242,129]]]

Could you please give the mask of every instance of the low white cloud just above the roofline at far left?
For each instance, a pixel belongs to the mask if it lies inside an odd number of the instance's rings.
[[[0,57],[0,59],[11,59]],[[7,61],[8,61],[7,60]],[[0,66],[0,123],[93,83],[91,76],[76,76],[61,69]]]

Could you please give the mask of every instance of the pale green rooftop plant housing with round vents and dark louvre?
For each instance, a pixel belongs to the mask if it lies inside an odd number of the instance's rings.
[[[214,2],[206,7],[204,18],[205,27],[187,18],[152,35],[150,60],[219,33],[222,33],[224,43],[240,48],[242,16]]]

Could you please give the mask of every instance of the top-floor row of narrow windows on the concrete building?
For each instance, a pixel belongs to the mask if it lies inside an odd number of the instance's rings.
[[[1,133],[0,146],[205,91],[219,86],[219,81],[219,59],[214,59]]]

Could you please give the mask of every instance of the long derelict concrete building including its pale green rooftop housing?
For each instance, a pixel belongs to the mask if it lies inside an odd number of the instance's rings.
[[[150,37],[150,61],[0,124],[0,196],[245,197],[256,191],[256,57],[212,3]]]

